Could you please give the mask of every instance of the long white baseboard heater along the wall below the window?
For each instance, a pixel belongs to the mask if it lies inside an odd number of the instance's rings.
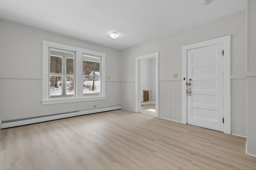
[[[117,105],[117,106],[99,107],[95,109],[70,111],[66,113],[57,113],[57,114],[51,114],[51,115],[28,117],[24,119],[15,119],[15,120],[8,120],[8,121],[2,121],[2,122],[0,121],[0,127],[1,129],[4,129],[9,127],[22,126],[22,125],[28,125],[28,124],[39,123],[44,121],[51,121],[51,120],[63,119],[67,117],[87,115],[91,113],[100,113],[104,111],[111,111],[111,110],[117,110],[117,109],[122,109],[122,106]]]

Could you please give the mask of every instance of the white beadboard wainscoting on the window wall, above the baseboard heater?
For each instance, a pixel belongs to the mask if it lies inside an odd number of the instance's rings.
[[[0,121],[120,105],[120,82],[106,82],[106,100],[42,105],[42,79],[0,78]]]

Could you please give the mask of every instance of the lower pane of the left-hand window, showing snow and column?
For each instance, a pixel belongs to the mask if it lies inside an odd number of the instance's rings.
[[[74,76],[50,75],[50,98],[74,97],[74,91]]]

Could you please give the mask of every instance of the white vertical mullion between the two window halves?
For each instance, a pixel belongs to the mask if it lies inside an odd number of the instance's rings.
[[[76,52],[76,98],[83,96],[83,55],[82,52]]]

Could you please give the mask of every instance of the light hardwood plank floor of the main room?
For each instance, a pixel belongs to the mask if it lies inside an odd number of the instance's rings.
[[[0,169],[256,168],[246,139],[115,110],[0,131]]]

